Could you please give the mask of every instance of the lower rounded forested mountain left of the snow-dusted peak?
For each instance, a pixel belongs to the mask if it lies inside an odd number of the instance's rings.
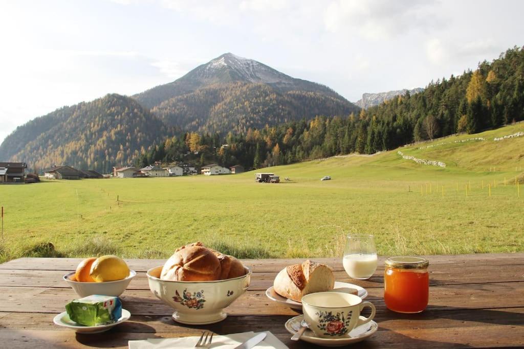
[[[136,100],[110,94],[36,118],[0,145],[0,159],[32,168],[53,164],[107,173],[126,164],[166,134],[166,126]]]

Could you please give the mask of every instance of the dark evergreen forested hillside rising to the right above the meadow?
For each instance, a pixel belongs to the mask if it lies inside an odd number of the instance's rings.
[[[415,140],[455,132],[475,133],[524,119],[524,50],[514,48],[475,71],[431,82],[416,95],[397,96],[358,114],[315,117],[226,137],[185,133],[173,137],[138,163],[187,159],[258,168],[350,152],[374,153]],[[227,144],[227,147],[221,147]]]

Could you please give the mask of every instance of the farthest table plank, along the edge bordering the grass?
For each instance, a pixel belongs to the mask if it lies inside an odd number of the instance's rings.
[[[425,256],[431,265],[524,265],[524,253],[499,254],[460,254],[460,255],[431,255]],[[385,256],[379,256],[379,268],[383,268]],[[311,258],[332,266],[337,271],[343,271],[342,258]],[[20,270],[61,270],[72,271],[82,258],[18,258],[3,264],[0,269]],[[289,264],[301,263],[304,258],[243,260],[243,263],[253,269],[253,272],[279,272]],[[126,259],[129,267],[137,272],[147,272],[148,269],[162,265],[166,260],[138,260]]]

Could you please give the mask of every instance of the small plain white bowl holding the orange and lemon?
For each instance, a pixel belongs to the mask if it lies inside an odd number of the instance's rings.
[[[63,279],[73,288],[80,298],[91,295],[119,297],[124,293],[127,286],[135,276],[136,272],[130,270],[129,275],[122,280],[106,281],[103,283],[81,283],[74,278],[74,272],[71,272],[65,274]]]

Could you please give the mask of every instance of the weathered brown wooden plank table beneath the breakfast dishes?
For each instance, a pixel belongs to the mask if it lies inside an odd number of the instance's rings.
[[[383,301],[384,258],[375,275],[356,282],[368,289],[377,308],[379,330],[354,348],[463,348],[524,346],[524,254],[428,256],[430,305],[420,314],[398,314]],[[336,279],[351,282],[340,259],[314,258],[330,265]],[[277,272],[301,260],[246,260],[253,270],[249,290],[227,308],[230,316],[217,324],[187,326],[171,319],[173,310],[156,299],[147,284],[148,268],[163,260],[128,260],[137,277],[122,295],[132,313],[129,322],[91,335],[77,335],[52,323],[65,304],[77,298],[62,280],[79,259],[20,258],[0,265],[0,347],[126,347],[128,340],[271,331],[290,348],[283,324],[297,312],[265,296]],[[354,281],[353,281],[354,282]],[[355,283],[355,282],[354,282]]]

